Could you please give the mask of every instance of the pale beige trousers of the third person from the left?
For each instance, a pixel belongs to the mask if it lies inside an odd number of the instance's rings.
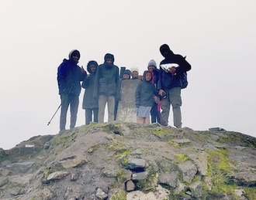
[[[115,97],[99,95],[99,115],[98,115],[99,123],[104,122],[106,103],[108,103],[108,114],[109,114],[108,122],[112,122],[114,120],[114,110],[115,110],[115,103],[116,103]]]

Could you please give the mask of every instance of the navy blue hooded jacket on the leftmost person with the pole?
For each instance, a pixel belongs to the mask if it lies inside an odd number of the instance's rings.
[[[79,95],[81,92],[80,81],[85,79],[86,73],[82,73],[78,62],[71,58],[73,53],[78,53],[80,57],[78,50],[72,50],[71,53],[69,53],[69,59],[64,59],[57,69],[59,94]]]

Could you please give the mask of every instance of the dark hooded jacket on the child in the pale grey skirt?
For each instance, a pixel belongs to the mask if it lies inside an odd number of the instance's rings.
[[[146,80],[146,73],[150,73],[150,71],[144,71],[143,80],[138,84],[135,92],[136,107],[153,107],[154,95],[158,96],[157,89],[152,83],[152,78],[149,81]]]

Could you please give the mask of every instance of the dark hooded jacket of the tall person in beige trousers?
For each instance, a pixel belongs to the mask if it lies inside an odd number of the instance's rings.
[[[112,59],[112,64],[107,63],[107,59]],[[99,65],[95,76],[94,98],[99,95],[114,96],[116,100],[120,99],[119,88],[119,68],[114,65],[114,56],[106,53],[104,63]]]

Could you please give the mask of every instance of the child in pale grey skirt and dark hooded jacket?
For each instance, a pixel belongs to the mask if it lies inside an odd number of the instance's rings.
[[[135,92],[137,123],[140,124],[150,124],[150,110],[154,104],[154,95],[158,95],[152,78],[150,71],[144,71],[143,80],[138,84]]]

